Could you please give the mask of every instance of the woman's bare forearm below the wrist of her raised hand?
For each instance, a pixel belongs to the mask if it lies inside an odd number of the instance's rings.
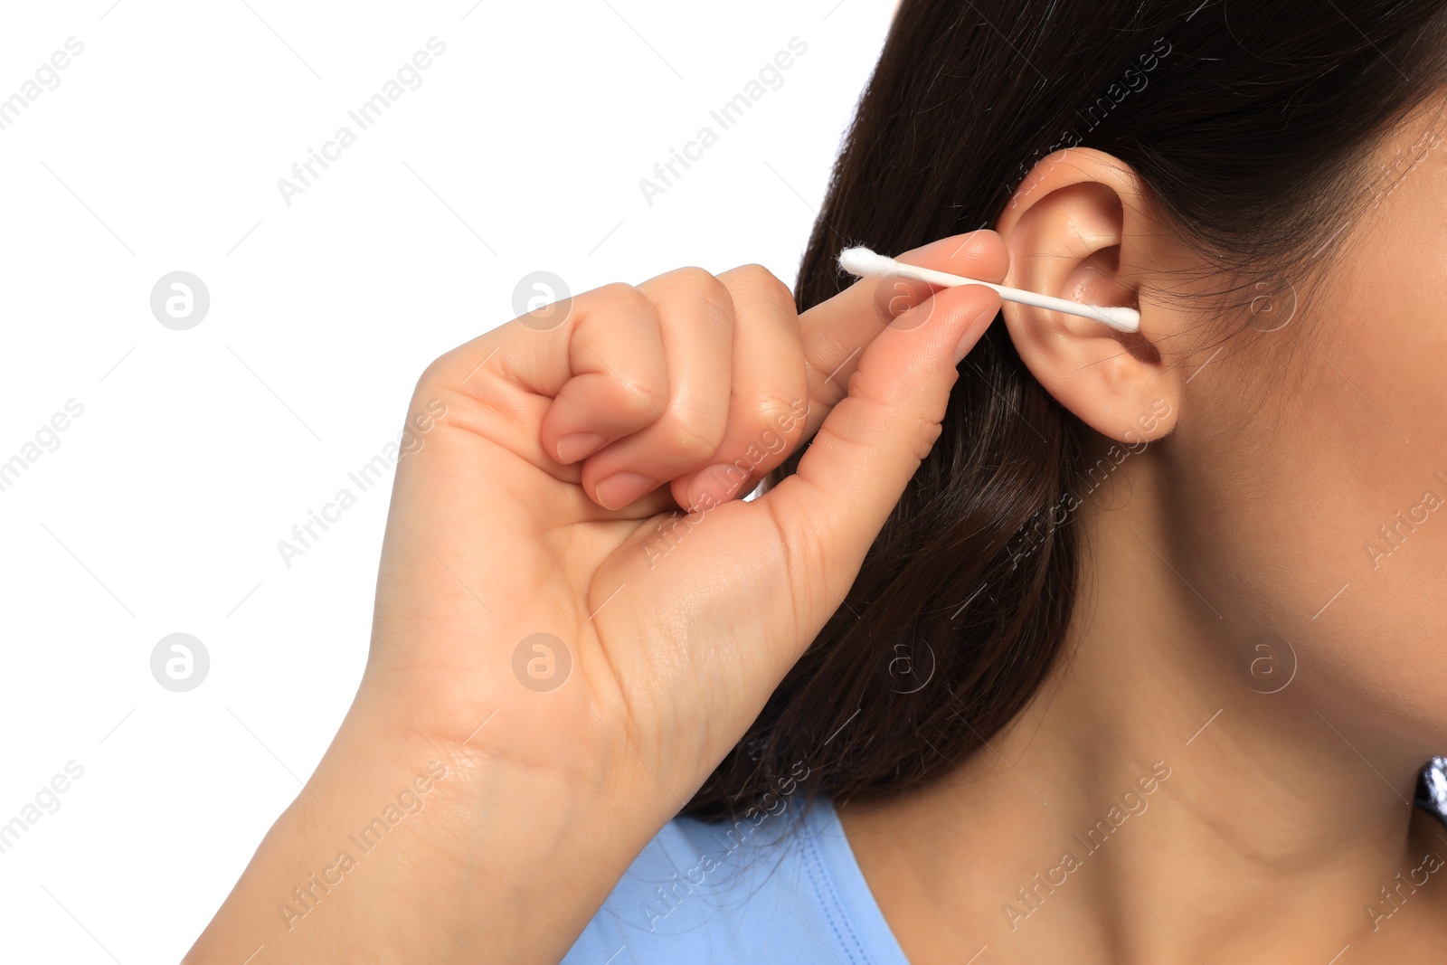
[[[566,783],[344,728],[185,962],[556,962],[667,819]]]

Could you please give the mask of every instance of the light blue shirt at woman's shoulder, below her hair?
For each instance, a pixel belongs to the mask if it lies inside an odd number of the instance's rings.
[[[774,800],[737,822],[671,820],[563,965],[909,965],[833,806]]]

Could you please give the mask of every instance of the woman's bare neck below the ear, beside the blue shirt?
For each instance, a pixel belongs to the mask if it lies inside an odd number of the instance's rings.
[[[839,806],[906,955],[1325,964],[1347,945],[1353,961],[1418,948],[1447,904],[1447,830],[1411,806],[1425,748],[1330,673],[1292,673],[1279,645],[1239,661],[1259,626],[1187,582],[1153,467],[1133,470],[1129,502],[1077,521],[1091,576],[1026,710],[936,784]]]

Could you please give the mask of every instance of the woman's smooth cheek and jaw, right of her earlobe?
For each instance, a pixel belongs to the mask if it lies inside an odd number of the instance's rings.
[[[1230,625],[1291,641],[1299,696],[1331,690],[1430,741],[1447,741],[1443,197],[1404,182],[1266,337],[1289,352],[1263,340],[1192,383],[1211,435],[1182,427],[1171,472],[1194,514],[1184,576]]]

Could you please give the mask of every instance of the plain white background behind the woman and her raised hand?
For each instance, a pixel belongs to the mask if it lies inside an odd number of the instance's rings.
[[[6,4],[0,98],[84,52],[0,130],[0,463],[84,414],[0,492],[0,823],[84,775],[0,854],[0,961],[181,958],[350,702],[391,480],[289,567],[278,541],[528,272],[793,284],[891,9]],[[433,36],[359,132],[347,110]],[[650,205],[640,178],[796,36],[783,85]],[[343,124],[356,143],[287,205],[278,178]],[[210,292],[185,331],[150,311],[172,271]],[[210,654],[185,693],[150,673],[172,632]]]

